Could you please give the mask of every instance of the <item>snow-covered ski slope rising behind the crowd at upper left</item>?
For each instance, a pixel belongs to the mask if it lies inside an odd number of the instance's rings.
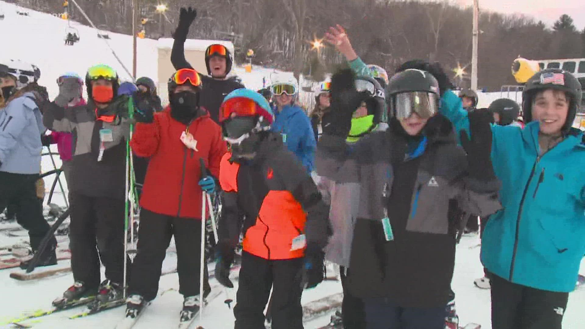
[[[72,4],[73,5],[73,4]],[[18,15],[16,11],[29,12],[28,16]],[[0,63],[8,59],[19,59],[35,64],[40,68],[39,84],[49,90],[54,98],[59,93],[56,79],[61,74],[73,71],[84,77],[87,68],[104,63],[115,68],[121,80],[131,80],[129,74],[114,57],[103,39],[98,38],[96,29],[71,21],[71,27],[79,31],[80,41],[73,46],[65,44],[67,20],[53,15],[23,9],[22,7],[0,1],[0,12],[4,12],[4,20],[0,20],[3,34]],[[194,28],[197,21],[194,23]],[[132,72],[132,36],[108,32],[108,43],[118,55],[124,66]],[[157,40],[137,39],[137,66],[138,77],[147,76],[157,78]],[[8,46],[10,45],[10,46]],[[205,72],[203,72],[205,73]],[[248,88],[254,90],[263,88],[263,78],[270,83],[274,70],[254,67],[252,73],[246,73],[243,68],[236,67],[235,74],[242,78]],[[281,73],[290,74],[290,73]],[[155,81],[157,82],[157,81]],[[160,81],[166,83],[166,81]]]

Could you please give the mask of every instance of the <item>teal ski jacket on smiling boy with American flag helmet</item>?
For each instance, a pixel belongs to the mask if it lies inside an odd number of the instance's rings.
[[[450,91],[449,91],[450,92]],[[469,129],[462,107],[441,107],[457,129]],[[492,126],[491,160],[503,209],[490,216],[481,261],[510,282],[572,292],[585,254],[585,139],[569,135],[539,156],[539,123]]]

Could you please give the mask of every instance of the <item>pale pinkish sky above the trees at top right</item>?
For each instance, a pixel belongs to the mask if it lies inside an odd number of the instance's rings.
[[[472,0],[455,0],[460,5],[472,5]],[[542,20],[548,26],[563,13],[574,20],[578,30],[585,28],[585,1],[584,0],[479,0],[481,9],[501,13],[522,13]]]

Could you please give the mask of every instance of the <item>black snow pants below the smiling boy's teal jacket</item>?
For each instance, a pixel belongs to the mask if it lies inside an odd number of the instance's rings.
[[[493,329],[561,329],[569,293],[517,285],[493,273],[488,277]]]

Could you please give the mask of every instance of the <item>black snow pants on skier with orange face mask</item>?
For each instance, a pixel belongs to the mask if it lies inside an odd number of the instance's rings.
[[[124,279],[124,207],[116,198],[70,193],[71,269],[75,281],[88,289],[100,283],[99,261],[106,279],[122,285]]]

